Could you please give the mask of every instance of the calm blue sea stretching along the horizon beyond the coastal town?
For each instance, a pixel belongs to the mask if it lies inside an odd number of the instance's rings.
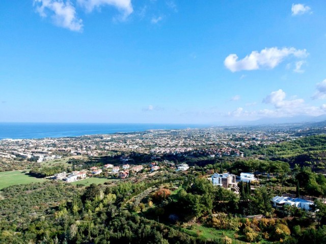
[[[0,123],[0,139],[31,139],[70,137],[117,132],[137,132],[158,129],[203,128],[203,125],[181,124],[63,124],[63,123]]]

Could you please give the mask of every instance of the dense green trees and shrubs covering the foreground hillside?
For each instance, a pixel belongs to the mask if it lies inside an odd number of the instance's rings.
[[[326,196],[326,177],[315,172],[323,159],[302,161],[304,155],[322,155],[325,142],[325,136],[314,136],[256,148],[267,151],[261,159],[175,156],[177,162],[192,161],[194,169],[175,172],[159,162],[166,167],[159,174],[111,185],[46,181],[8,187],[0,195],[0,243],[326,243],[322,200],[315,199],[315,213],[270,204],[276,194]],[[93,164],[117,160],[103,157]],[[79,159],[69,163],[92,165]],[[63,170],[64,165],[43,166],[30,173],[44,177]],[[236,194],[207,180],[226,171],[257,172],[260,184],[240,182]],[[215,234],[203,238],[199,230]]]

